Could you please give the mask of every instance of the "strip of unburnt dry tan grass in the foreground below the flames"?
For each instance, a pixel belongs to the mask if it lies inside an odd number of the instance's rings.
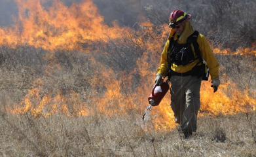
[[[1,156],[256,156],[256,114],[247,115],[200,117],[184,140],[176,129],[145,131],[131,117],[2,114]]]

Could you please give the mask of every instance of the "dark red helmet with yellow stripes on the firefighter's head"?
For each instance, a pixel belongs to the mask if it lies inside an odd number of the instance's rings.
[[[187,14],[183,10],[176,9],[171,12],[170,14],[170,24],[169,27],[176,27],[180,26],[181,24],[184,24],[187,20],[191,18],[190,14]]]

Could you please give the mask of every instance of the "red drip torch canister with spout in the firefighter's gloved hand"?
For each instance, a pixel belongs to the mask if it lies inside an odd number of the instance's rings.
[[[164,98],[164,96],[168,92],[169,88],[170,88],[170,86],[168,84],[168,80],[166,80],[165,82],[160,83],[158,86],[156,86],[156,84],[155,84],[155,86],[153,87],[153,90],[151,92],[151,95],[148,98],[149,107],[147,107],[147,110],[143,114],[142,120],[144,120],[146,112],[148,110],[151,111],[152,106],[159,105],[159,103],[162,101],[162,98]]]

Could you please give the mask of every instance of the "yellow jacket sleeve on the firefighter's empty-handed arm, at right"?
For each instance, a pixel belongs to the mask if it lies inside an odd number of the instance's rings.
[[[197,42],[199,44],[199,49],[200,52],[202,53],[202,57],[206,61],[207,66],[209,68],[211,80],[215,79],[216,77],[219,77],[219,62],[213,55],[211,47],[208,41],[206,40],[206,37],[204,37],[204,35],[202,34],[198,35]]]

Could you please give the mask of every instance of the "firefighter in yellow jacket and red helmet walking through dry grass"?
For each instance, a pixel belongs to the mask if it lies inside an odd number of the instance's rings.
[[[185,139],[196,131],[196,118],[200,109],[201,81],[207,75],[208,66],[214,92],[220,84],[219,63],[204,35],[194,31],[190,14],[174,10],[170,14],[171,33],[162,51],[155,84],[168,74],[172,111]],[[197,32],[197,33],[196,33]],[[208,80],[208,78],[206,78]]]

